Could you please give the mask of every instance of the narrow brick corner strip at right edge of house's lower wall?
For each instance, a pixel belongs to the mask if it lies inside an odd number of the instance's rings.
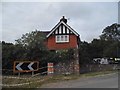
[[[80,65],[79,65],[79,50],[74,49],[74,73],[80,74]]]

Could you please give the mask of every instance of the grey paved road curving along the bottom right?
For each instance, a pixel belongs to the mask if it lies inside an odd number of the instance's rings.
[[[107,74],[78,80],[50,83],[41,88],[118,88],[118,74]]]

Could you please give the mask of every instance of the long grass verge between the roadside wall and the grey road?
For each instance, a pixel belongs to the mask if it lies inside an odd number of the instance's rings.
[[[91,72],[91,73],[80,74],[80,75],[71,74],[71,75],[55,75],[55,76],[45,76],[45,77],[37,76],[37,77],[26,78],[26,79],[24,79],[23,77],[3,78],[2,82],[4,85],[8,85],[8,86],[3,86],[3,88],[40,88],[41,85],[43,84],[69,81],[69,80],[75,80],[79,78],[93,77],[93,76],[105,75],[110,73],[117,73],[117,72],[102,71],[102,72]],[[23,83],[23,85],[20,85],[21,83]],[[11,86],[11,85],[15,85],[15,86]]]

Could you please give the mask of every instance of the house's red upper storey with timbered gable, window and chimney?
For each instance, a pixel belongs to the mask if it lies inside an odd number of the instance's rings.
[[[64,16],[46,37],[49,50],[78,48],[80,42],[79,34],[67,24]]]

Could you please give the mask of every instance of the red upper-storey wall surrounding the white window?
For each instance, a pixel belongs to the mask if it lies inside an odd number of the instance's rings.
[[[77,47],[77,37],[75,35],[70,35],[69,42],[56,43],[55,36],[50,36],[48,38],[47,47],[49,50],[76,48]]]

